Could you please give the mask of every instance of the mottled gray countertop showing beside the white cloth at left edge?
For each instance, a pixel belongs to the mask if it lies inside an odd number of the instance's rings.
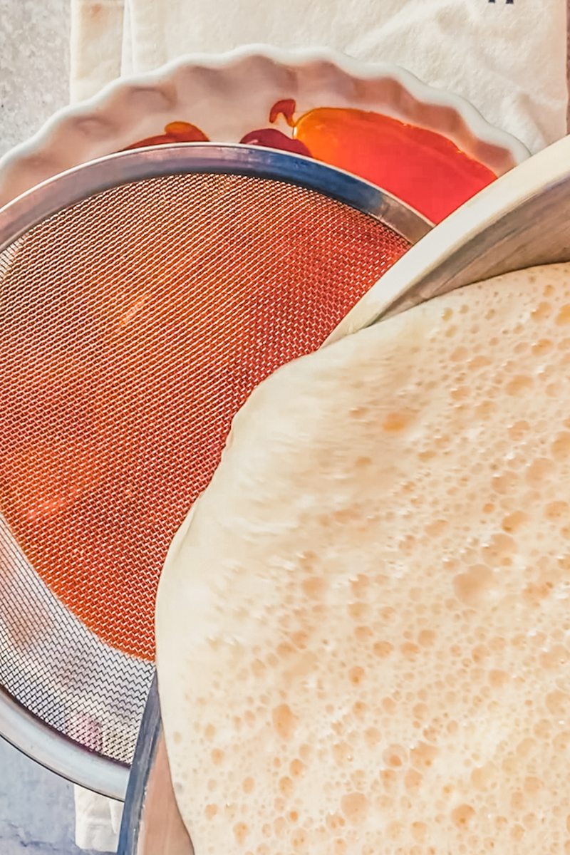
[[[68,103],[70,0],[0,0],[0,155]],[[0,739],[2,855],[79,855],[73,787]]]

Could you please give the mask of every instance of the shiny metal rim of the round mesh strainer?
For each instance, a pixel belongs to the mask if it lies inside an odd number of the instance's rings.
[[[238,174],[320,192],[373,216],[416,243],[432,223],[379,187],[324,163],[239,144],[173,144],[119,152],[56,175],[0,209],[0,252],[30,228],[116,186],[171,174]],[[69,781],[123,800],[126,764],[91,752],[32,715],[0,686],[0,735]]]

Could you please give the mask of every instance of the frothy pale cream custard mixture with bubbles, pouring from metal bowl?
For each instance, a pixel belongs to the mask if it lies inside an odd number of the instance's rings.
[[[280,369],[162,576],[197,855],[570,852],[570,266]]]

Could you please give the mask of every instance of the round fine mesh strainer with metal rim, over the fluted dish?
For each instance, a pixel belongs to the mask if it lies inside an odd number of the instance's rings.
[[[429,227],[318,162],[203,144],[0,211],[0,733],[123,797],[162,562],[232,416]]]

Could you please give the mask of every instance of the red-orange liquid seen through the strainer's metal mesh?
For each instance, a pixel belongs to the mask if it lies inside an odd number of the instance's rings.
[[[167,547],[232,416],[407,248],[314,192],[187,175],[91,198],[0,257],[0,512],[102,640],[154,656]]]

